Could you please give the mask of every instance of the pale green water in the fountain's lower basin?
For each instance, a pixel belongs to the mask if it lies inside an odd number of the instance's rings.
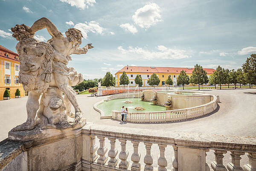
[[[132,101],[132,103],[125,103],[125,101]],[[103,103],[99,104],[97,107],[104,111],[104,116],[111,116],[112,110],[120,111],[122,106],[128,108],[128,112],[149,112],[149,111],[165,111],[166,107],[153,105],[152,102],[141,101],[140,98],[126,98],[126,99],[114,99],[110,101],[104,101]],[[134,107],[141,106],[144,107],[145,110],[135,110]],[[103,113],[102,113],[103,114]]]

